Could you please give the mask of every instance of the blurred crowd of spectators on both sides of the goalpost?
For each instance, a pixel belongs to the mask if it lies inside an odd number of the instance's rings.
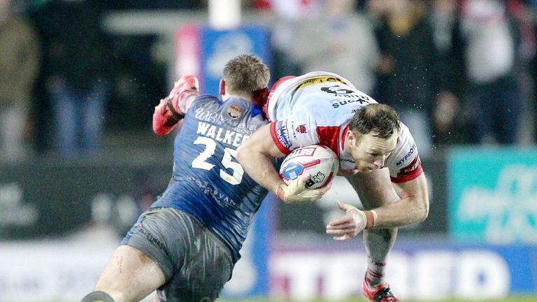
[[[155,57],[158,36],[113,36],[103,15],[208,2],[0,0],[0,160],[91,157],[108,128],[148,133],[169,63]],[[536,0],[248,0],[243,9],[277,20],[273,80],[343,75],[398,110],[422,157],[537,141]]]

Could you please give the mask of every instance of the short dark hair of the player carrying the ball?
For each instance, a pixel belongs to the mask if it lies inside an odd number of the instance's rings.
[[[399,116],[394,108],[371,103],[359,108],[350,120],[349,129],[356,135],[375,133],[378,138],[389,138],[401,130]]]

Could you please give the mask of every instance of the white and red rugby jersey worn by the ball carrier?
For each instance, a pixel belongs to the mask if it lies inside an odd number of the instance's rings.
[[[335,73],[315,71],[290,78],[279,83],[268,100],[272,139],[285,154],[306,145],[326,145],[338,154],[341,169],[351,170],[355,161],[343,150],[345,134],[352,115],[369,103],[377,101]],[[423,173],[414,138],[403,123],[385,166],[392,182]]]

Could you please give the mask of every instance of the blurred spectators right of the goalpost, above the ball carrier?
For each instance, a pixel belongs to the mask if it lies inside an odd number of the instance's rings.
[[[274,32],[282,66],[339,73],[393,106],[422,157],[454,144],[536,141],[537,1],[255,3],[287,20]]]

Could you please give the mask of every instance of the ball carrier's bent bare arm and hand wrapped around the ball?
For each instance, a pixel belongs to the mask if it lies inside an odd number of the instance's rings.
[[[310,178],[308,174],[285,185],[271,160],[283,156],[285,153],[271,139],[271,124],[267,124],[239,146],[236,159],[253,180],[286,203],[315,201],[330,189],[330,185],[321,189],[306,189],[306,181]]]

